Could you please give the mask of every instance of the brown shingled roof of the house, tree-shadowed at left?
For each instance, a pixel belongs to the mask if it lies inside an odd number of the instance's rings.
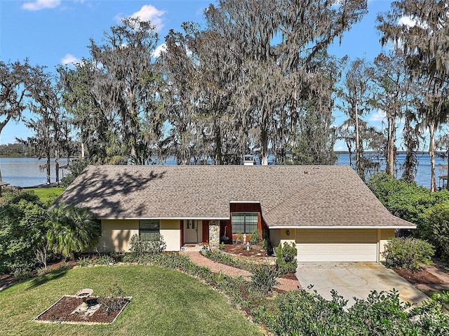
[[[232,201],[270,228],[415,228],[349,166],[88,166],[58,199],[101,219],[229,219]]]

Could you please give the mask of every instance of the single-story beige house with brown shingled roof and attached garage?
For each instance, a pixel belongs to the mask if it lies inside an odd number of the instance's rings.
[[[395,229],[415,229],[349,166],[88,166],[58,202],[98,217],[105,252],[133,234],[179,251],[258,230],[274,247],[295,242],[299,262],[379,262]]]

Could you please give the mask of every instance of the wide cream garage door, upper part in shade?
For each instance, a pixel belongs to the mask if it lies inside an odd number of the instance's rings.
[[[377,262],[376,229],[297,229],[298,262]]]

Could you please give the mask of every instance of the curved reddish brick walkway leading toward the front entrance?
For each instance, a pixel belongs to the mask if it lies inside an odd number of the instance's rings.
[[[195,264],[208,267],[210,271],[213,271],[214,273],[222,272],[229,276],[243,276],[245,278],[249,278],[251,275],[250,272],[245,271],[244,269],[238,269],[236,267],[220,264],[220,262],[214,262],[204,257],[199,252],[185,251],[181,253],[188,255],[189,259]],[[276,285],[275,288],[279,290],[297,290],[298,288],[301,288],[300,282],[297,280],[278,278],[278,281],[279,285]]]

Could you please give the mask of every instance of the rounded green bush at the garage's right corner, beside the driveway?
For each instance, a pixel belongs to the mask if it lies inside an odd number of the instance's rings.
[[[382,255],[394,267],[419,269],[420,264],[430,264],[434,246],[418,238],[391,238],[384,246]]]

